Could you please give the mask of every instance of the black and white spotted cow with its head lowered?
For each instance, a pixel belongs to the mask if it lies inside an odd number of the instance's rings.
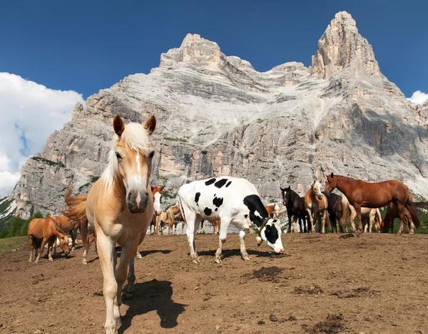
[[[200,221],[220,220],[220,242],[215,252],[215,262],[221,263],[221,249],[226,241],[231,224],[239,229],[240,251],[244,260],[249,260],[245,249],[245,231],[255,224],[259,229],[258,245],[263,241],[276,253],[283,253],[279,221],[270,219],[257,189],[246,179],[236,177],[213,177],[183,184],[178,190],[183,218],[187,222],[190,259],[199,263],[195,246],[195,226]]]

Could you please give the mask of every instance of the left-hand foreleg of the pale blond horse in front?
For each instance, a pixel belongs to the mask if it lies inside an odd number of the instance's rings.
[[[104,324],[104,329],[106,330],[106,334],[114,334],[116,324],[121,322],[116,299],[118,283],[116,282],[114,268],[114,257],[116,256],[114,247],[116,246],[116,240],[111,240],[108,236],[105,236],[101,229],[99,232],[96,243],[104,278],[103,296],[106,301],[106,323]]]

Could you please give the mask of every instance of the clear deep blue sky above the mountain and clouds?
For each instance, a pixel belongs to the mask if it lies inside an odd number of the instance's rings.
[[[0,72],[83,98],[148,73],[186,33],[216,41],[258,71],[310,66],[337,11],[357,21],[382,73],[409,97],[428,93],[428,1],[1,1]]]

